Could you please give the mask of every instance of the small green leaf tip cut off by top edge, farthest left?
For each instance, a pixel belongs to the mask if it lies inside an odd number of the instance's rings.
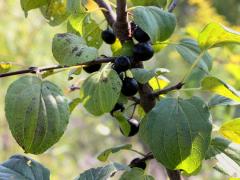
[[[27,12],[31,9],[39,8],[43,5],[46,5],[51,0],[21,0],[21,6],[25,14],[27,15]]]

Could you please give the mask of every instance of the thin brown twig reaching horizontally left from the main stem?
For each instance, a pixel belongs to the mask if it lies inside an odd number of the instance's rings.
[[[93,61],[80,63],[80,64],[77,64],[74,66],[53,65],[53,66],[48,66],[48,67],[30,67],[28,69],[23,69],[23,70],[19,70],[19,71],[0,74],[0,78],[14,76],[14,75],[20,75],[20,74],[29,74],[29,73],[36,74],[38,72],[45,72],[45,71],[56,70],[56,69],[65,69],[65,68],[75,67],[75,66],[77,67],[77,66],[109,63],[109,62],[113,62],[115,59],[116,59],[116,57],[99,58],[99,59],[95,59]]]

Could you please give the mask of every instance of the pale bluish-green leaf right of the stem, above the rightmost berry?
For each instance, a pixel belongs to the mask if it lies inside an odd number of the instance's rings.
[[[153,44],[167,40],[175,30],[175,15],[158,7],[138,6],[132,13],[134,22],[149,35]]]

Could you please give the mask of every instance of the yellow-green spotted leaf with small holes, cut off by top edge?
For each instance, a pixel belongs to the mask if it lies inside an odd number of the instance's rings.
[[[66,2],[62,0],[48,0],[49,2],[40,8],[42,15],[51,26],[63,23],[69,16]]]

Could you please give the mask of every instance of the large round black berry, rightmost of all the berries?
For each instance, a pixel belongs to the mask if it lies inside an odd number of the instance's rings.
[[[137,61],[147,61],[154,55],[154,50],[149,43],[138,43],[133,48],[133,57]]]

